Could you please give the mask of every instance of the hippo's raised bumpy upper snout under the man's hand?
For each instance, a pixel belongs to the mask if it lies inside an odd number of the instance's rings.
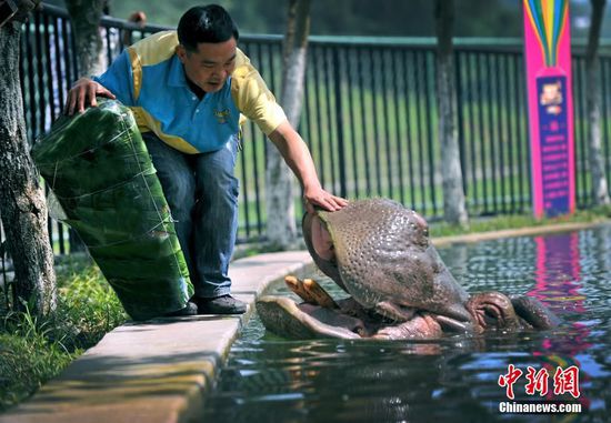
[[[393,313],[389,318],[428,310],[457,325],[471,322],[469,295],[414,211],[391,200],[354,201],[339,212],[307,214],[303,236],[319,269],[363,306]]]

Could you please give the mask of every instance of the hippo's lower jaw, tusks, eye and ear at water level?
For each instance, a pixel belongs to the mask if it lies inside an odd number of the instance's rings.
[[[311,279],[289,275],[284,282],[302,303],[288,296],[264,295],[257,300],[257,312],[263,325],[287,339],[378,339],[431,340],[450,330],[482,332],[484,329],[545,330],[555,328],[560,320],[533,298],[507,298],[499,292],[473,295],[468,309],[475,316],[469,326],[447,324],[448,318],[425,310],[414,311],[404,321],[389,319],[372,309],[365,309],[353,298],[333,300]]]

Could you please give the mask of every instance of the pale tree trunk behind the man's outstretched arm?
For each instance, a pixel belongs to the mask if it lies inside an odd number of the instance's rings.
[[[290,0],[284,38],[282,97],[280,104],[297,128],[303,101],[303,79],[310,32],[310,0]],[[280,152],[269,149],[266,170],[268,240],[273,248],[287,249],[297,239],[293,177]]]

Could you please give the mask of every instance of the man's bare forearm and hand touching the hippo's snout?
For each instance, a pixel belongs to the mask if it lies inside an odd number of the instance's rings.
[[[328,211],[335,211],[348,204],[347,200],[332,195],[322,189],[308,145],[306,145],[306,142],[303,142],[289,121],[280,123],[269,134],[269,138],[299,179],[303,188],[303,198],[309,213],[314,212],[314,205],[319,205]]]

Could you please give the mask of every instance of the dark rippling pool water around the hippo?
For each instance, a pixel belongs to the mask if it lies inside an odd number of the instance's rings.
[[[258,319],[233,345],[204,405],[213,422],[611,422],[611,225],[441,249],[468,291],[541,299],[565,325],[540,333],[452,335],[439,341],[286,341]],[[333,296],[341,295],[329,281]],[[286,293],[283,285],[276,292]],[[503,414],[499,376],[523,372],[513,401],[580,404],[581,413]],[[579,397],[558,367],[578,369]],[[548,394],[525,392],[528,367]],[[573,373],[574,376],[574,373]],[[545,377],[541,379],[543,381]],[[572,394],[571,394],[572,392]]]

